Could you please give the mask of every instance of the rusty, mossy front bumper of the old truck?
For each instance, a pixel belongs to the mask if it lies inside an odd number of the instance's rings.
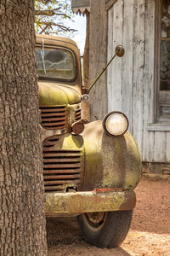
[[[45,213],[58,216],[83,212],[132,210],[136,205],[134,191],[94,189],[94,191],[46,193]]]

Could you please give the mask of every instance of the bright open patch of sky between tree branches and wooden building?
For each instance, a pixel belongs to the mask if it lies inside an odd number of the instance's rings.
[[[75,32],[74,35],[71,36],[71,39],[77,43],[81,55],[83,55],[86,40],[86,16],[75,14],[73,20],[74,22],[69,20],[67,21],[67,23],[65,22],[65,24],[77,30],[77,32]]]

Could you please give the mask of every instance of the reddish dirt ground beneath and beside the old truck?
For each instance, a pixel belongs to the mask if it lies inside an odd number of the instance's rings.
[[[170,179],[143,178],[137,206],[122,245],[101,249],[82,240],[77,218],[48,218],[48,256],[170,256]]]

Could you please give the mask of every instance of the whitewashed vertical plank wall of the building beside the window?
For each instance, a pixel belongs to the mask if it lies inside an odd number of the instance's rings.
[[[156,90],[155,3],[118,0],[108,11],[108,61],[117,44],[125,48],[122,59],[117,57],[108,68],[108,110],[127,114],[144,161],[170,162],[170,131],[148,130],[154,122]]]

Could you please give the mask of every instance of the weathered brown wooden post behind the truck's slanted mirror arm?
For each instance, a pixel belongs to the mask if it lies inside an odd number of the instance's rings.
[[[107,62],[107,12],[105,0],[91,1],[89,20],[89,84]],[[89,93],[91,120],[103,119],[107,113],[106,72]]]

